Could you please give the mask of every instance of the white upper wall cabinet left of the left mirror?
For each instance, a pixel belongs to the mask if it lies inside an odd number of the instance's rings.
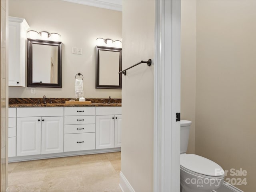
[[[9,17],[9,86],[25,87],[26,30],[23,18]]]

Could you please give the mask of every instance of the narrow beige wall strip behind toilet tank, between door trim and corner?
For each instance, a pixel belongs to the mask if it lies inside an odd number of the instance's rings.
[[[187,153],[195,152],[196,0],[181,1],[181,119],[192,121]]]

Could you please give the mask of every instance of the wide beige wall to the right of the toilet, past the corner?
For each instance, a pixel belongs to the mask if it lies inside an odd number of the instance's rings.
[[[256,189],[256,1],[197,1],[196,154]],[[230,174],[226,178],[232,178]]]

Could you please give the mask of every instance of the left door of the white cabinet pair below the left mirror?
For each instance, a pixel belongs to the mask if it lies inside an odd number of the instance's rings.
[[[41,117],[17,118],[17,156],[41,154]]]

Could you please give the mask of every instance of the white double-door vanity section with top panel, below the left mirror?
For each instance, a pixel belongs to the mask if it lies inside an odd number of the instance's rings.
[[[17,156],[63,152],[64,108],[17,108]]]

